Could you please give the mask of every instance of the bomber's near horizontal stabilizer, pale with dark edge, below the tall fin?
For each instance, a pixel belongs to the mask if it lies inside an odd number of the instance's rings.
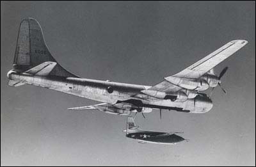
[[[40,65],[37,65],[36,67],[27,70],[25,73],[35,76],[47,76],[56,65],[56,62],[46,61]]]

